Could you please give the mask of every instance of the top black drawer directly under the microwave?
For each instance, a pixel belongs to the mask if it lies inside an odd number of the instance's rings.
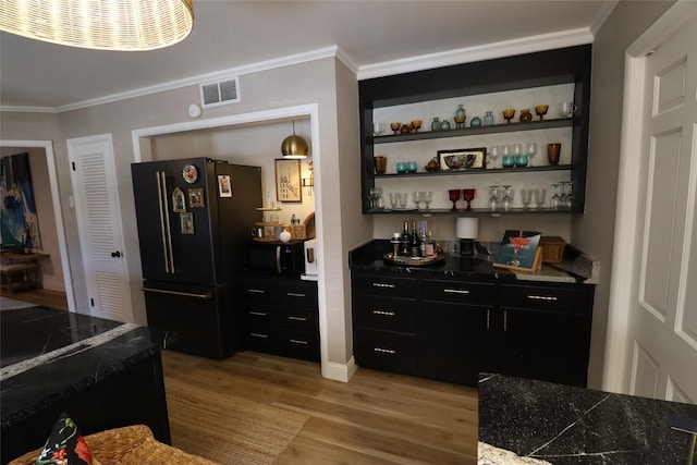
[[[270,302],[298,307],[317,307],[317,285],[303,281],[246,280],[242,286],[245,302]]]

